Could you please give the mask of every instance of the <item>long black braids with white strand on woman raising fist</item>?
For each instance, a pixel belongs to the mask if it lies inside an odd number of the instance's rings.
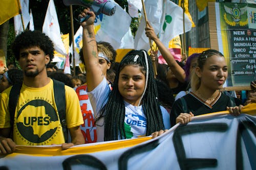
[[[147,62],[146,62],[147,60]],[[163,117],[157,99],[158,92],[154,79],[153,64],[144,50],[132,50],[127,53],[117,69],[115,81],[113,83],[113,90],[106,105],[101,109],[101,116],[104,116],[104,140],[117,140],[118,135],[121,139],[126,138],[124,129],[125,107],[123,97],[118,90],[118,79],[120,70],[127,65],[139,65],[144,69],[146,80],[146,89],[141,99],[142,108],[146,115],[146,135],[151,135],[155,131],[163,130]],[[146,71],[148,70],[148,71]],[[147,73],[148,72],[148,73]],[[100,118],[100,117],[99,117]]]

